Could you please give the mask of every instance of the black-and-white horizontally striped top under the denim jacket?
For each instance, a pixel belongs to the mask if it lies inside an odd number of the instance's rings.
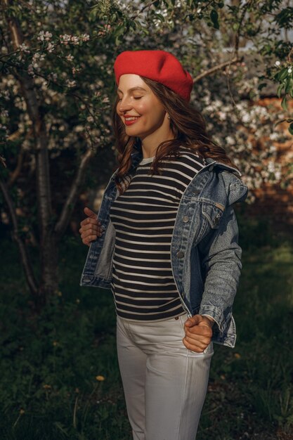
[[[116,231],[112,294],[117,314],[131,321],[185,313],[171,269],[171,238],[182,194],[206,162],[188,148],[180,151],[159,175],[150,174],[153,158],[142,160],[110,209]]]

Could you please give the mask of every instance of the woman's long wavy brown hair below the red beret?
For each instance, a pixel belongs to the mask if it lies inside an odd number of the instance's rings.
[[[190,103],[181,98],[178,93],[169,89],[169,87],[152,79],[145,77],[141,77],[141,79],[164,105],[170,117],[171,131],[174,134],[174,139],[164,141],[158,145],[155,159],[150,169],[152,175],[159,173],[159,167],[162,167],[163,159],[166,161],[178,157],[181,146],[196,151],[200,157],[211,157],[238,169],[230,160],[230,157],[226,155],[226,151],[214,141],[211,141],[206,131],[206,122],[199,111],[195,110]],[[131,153],[134,152],[134,148],[141,147],[141,140],[140,138],[126,135],[124,123],[119,115],[117,115],[118,101],[119,97],[117,96],[112,109],[112,127],[116,138],[115,148],[118,151],[119,162],[115,183],[119,193],[123,193],[127,185],[127,172],[131,167]]]

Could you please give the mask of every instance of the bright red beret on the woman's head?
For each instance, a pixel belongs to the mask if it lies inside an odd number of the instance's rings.
[[[117,84],[121,75],[134,73],[153,79],[190,100],[193,79],[176,56],[165,51],[124,51],[114,63]]]

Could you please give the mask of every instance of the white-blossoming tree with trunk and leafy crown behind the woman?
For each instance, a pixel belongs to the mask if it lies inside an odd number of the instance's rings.
[[[58,244],[86,169],[112,147],[112,63],[119,52],[171,50],[193,75],[192,100],[214,141],[232,155],[249,187],[280,179],[270,158],[274,141],[284,138],[274,125],[287,120],[293,134],[286,105],[293,97],[292,8],[279,0],[1,0],[1,6],[1,212],[13,225],[36,304],[58,290]],[[247,51],[259,57],[259,75],[247,77]],[[253,104],[268,83],[279,84],[282,114]],[[247,129],[256,141],[266,136],[261,153]],[[61,157],[70,157],[65,169],[58,168]],[[266,169],[259,167],[263,160]],[[28,251],[32,231],[39,278]]]

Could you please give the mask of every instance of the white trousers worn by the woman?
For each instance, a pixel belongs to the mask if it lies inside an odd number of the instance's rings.
[[[134,440],[195,440],[207,393],[211,342],[185,348],[187,314],[157,323],[117,316],[117,352]]]

